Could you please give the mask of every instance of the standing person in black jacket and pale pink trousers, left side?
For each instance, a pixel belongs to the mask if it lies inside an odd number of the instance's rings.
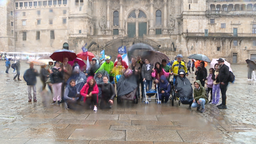
[[[52,104],[56,104],[56,100],[58,100],[58,104],[60,104],[61,100],[61,85],[63,83],[63,71],[60,67],[60,62],[56,61],[55,67],[52,68],[52,74],[50,75],[52,90],[53,90],[53,102]],[[64,99],[64,98],[63,98]]]

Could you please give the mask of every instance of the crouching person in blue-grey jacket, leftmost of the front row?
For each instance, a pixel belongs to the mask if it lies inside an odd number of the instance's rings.
[[[64,93],[64,99],[67,105],[66,108],[72,109],[72,104],[75,104],[78,98],[79,98],[79,93],[77,93],[76,81],[75,79],[71,79]]]

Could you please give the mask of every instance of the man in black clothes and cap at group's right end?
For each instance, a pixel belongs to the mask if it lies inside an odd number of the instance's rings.
[[[219,64],[219,74],[218,74],[218,82],[220,82],[220,91],[221,91],[221,99],[222,99],[222,103],[220,105],[218,105],[217,107],[219,109],[227,109],[226,106],[226,100],[227,100],[227,96],[226,96],[226,92],[227,92],[227,86],[228,86],[228,77],[229,77],[229,68],[227,65],[224,64],[224,60],[222,58],[220,58],[218,60],[218,64]]]

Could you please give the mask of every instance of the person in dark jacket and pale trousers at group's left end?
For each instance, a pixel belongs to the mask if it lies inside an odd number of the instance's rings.
[[[24,73],[24,80],[27,82],[28,85],[28,102],[31,102],[32,95],[31,95],[31,88],[33,88],[33,99],[34,102],[36,100],[36,76],[39,76],[37,70],[34,68],[34,63],[29,63],[29,68]]]

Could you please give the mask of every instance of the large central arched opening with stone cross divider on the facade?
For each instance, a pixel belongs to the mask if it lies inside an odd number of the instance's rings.
[[[130,38],[147,35],[147,15],[141,10],[133,10],[127,18],[127,34]]]

